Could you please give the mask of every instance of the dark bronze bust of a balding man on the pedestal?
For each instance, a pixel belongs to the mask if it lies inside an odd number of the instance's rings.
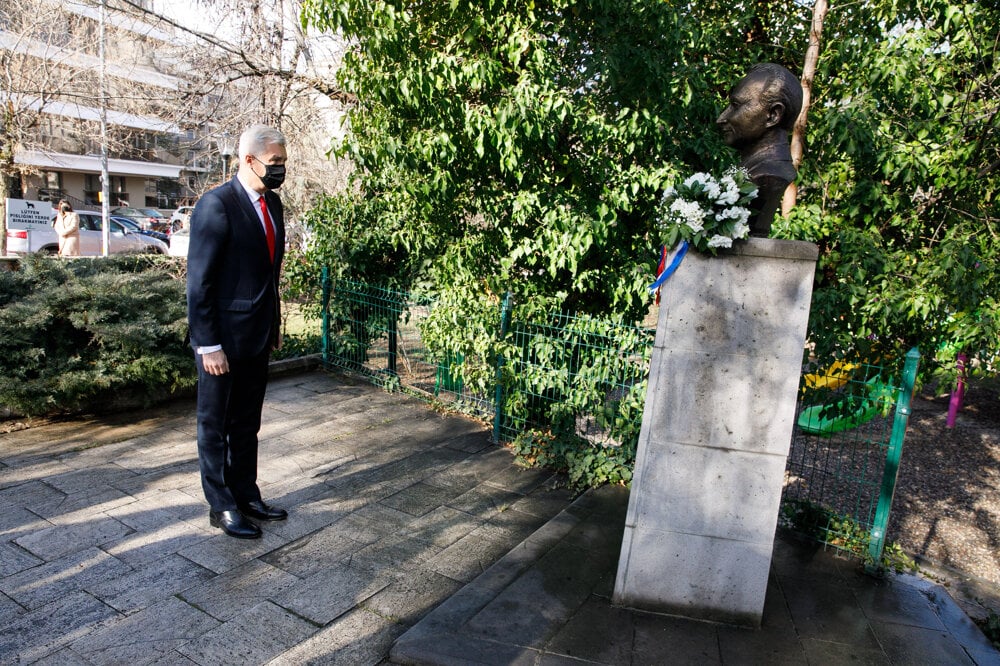
[[[802,85],[781,65],[754,65],[729,93],[716,123],[727,145],[740,151],[743,168],[757,186],[750,235],[766,238],[795,167],[788,132],[802,109]]]

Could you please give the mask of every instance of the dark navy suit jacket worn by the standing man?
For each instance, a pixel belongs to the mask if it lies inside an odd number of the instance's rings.
[[[257,211],[235,177],[202,196],[191,214],[187,304],[192,347],[221,344],[226,356],[239,359],[277,343],[284,209],[277,194],[264,196],[274,224],[273,263]]]

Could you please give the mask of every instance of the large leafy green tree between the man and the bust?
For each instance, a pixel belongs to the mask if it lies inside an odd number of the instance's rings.
[[[743,45],[752,8],[726,32],[664,2],[307,2],[354,46],[336,147],[357,165],[351,217],[405,251],[409,284],[634,320],[659,192],[735,161],[720,97],[777,55]]]

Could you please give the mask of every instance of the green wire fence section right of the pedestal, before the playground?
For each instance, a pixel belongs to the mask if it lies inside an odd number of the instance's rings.
[[[920,354],[902,374],[864,361],[810,364],[782,493],[786,526],[878,566]]]

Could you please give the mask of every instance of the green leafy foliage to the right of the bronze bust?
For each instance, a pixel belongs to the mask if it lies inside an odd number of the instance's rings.
[[[821,247],[821,353],[923,352],[925,376],[996,373],[1000,15],[918,0],[833,5],[799,205],[782,228]]]

